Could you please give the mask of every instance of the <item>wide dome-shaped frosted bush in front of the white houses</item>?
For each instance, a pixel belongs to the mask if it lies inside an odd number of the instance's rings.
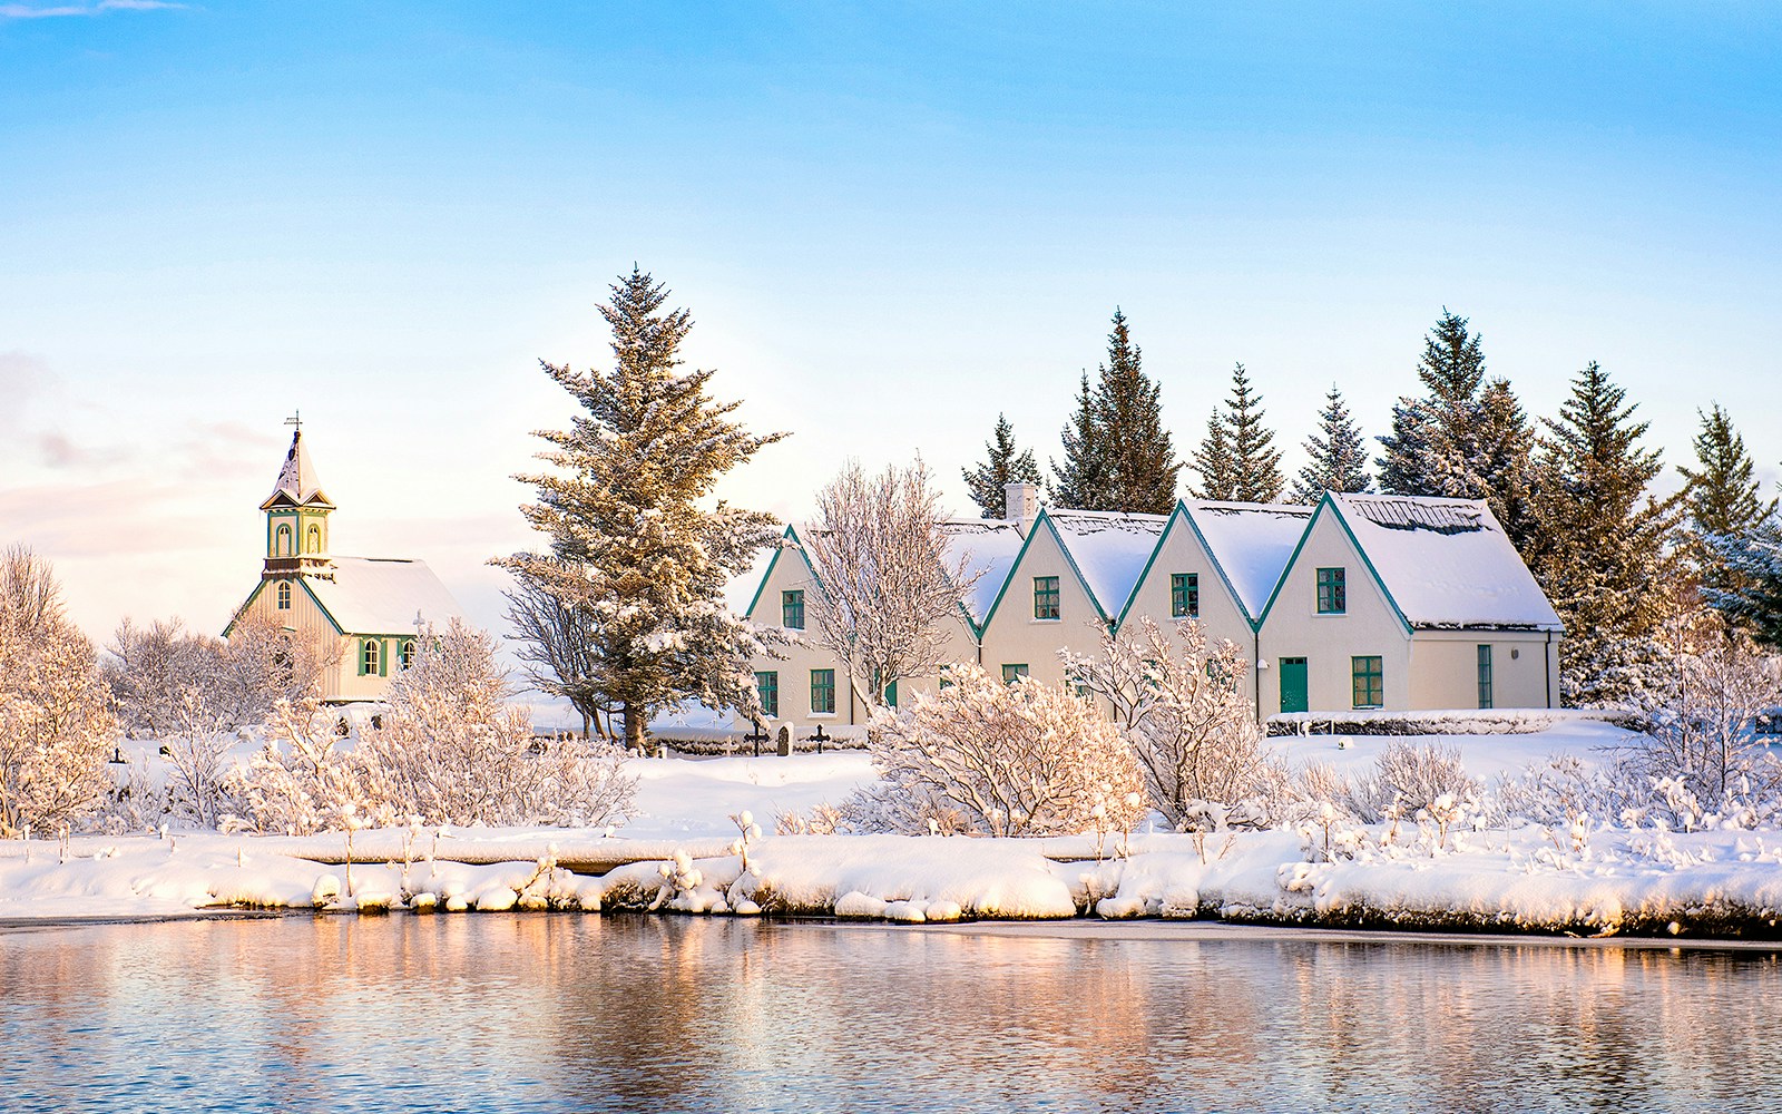
[[[843,806],[859,827],[1053,836],[1139,820],[1144,775],[1094,700],[971,665],[948,679],[873,718],[868,749],[884,781]]]

